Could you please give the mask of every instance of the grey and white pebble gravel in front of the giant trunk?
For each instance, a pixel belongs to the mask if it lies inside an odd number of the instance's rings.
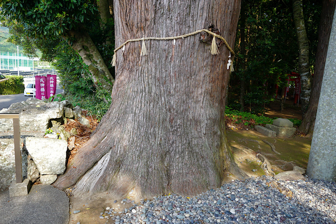
[[[124,199],[121,203],[131,201]],[[308,178],[275,181],[262,176],[236,180],[191,198],[167,195],[130,205],[123,212],[107,207],[99,217],[112,219],[115,224],[325,224],[336,221],[336,185]]]

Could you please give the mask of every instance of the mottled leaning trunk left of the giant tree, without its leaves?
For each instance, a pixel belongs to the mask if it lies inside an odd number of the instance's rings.
[[[82,30],[72,30],[69,31],[69,36],[75,38],[71,46],[88,66],[95,87],[101,85],[112,92],[114,79],[89,34]]]

